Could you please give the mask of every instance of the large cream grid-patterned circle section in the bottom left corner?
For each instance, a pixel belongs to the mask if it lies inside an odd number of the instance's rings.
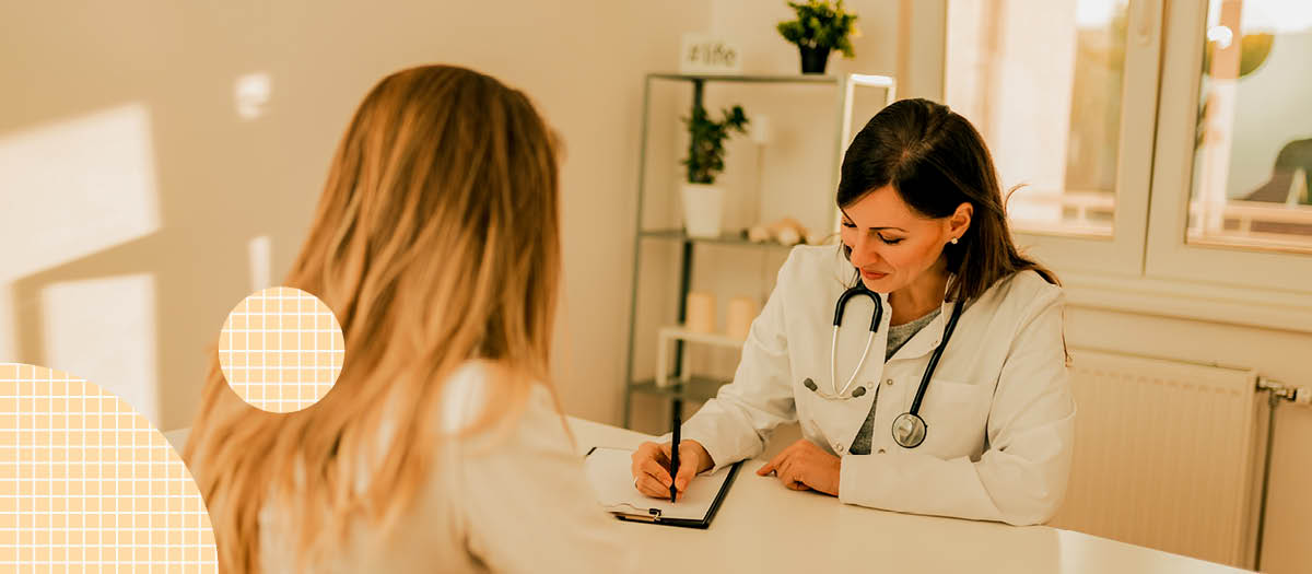
[[[110,570],[218,571],[192,473],[123,400],[0,363],[0,571]]]

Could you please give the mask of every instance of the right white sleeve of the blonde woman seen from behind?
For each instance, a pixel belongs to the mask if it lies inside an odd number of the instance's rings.
[[[632,571],[618,522],[597,503],[583,457],[544,388],[514,427],[461,442],[457,506],[471,554],[492,571]]]

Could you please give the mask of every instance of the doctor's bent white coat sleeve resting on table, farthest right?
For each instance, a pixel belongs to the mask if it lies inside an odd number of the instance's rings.
[[[842,502],[901,512],[1039,524],[1065,497],[1075,439],[1075,398],[1061,335],[1064,296],[1046,297],[1006,356],[979,461],[914,450],[844,456]]]

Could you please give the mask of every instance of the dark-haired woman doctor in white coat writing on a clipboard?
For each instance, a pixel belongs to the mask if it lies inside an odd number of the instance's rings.
[[[848,148],[837,203],[842,245],[795,248],[779,269],[733,381],[682,427],[674,485],[799,421],[803,439],[757,474],[875,508],[1048,520],[1076,411],[1064,297],[1012,241],[979,132],[897,101]],[[669,495],[669,455],[634,453],[639,491]]]

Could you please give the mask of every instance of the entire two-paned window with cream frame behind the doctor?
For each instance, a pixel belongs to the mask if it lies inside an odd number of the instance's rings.
[[[945,100],[1021,186],[1031,253],[1199,299],[1312,291],[1312,3],[949,0],[946,30]]]

